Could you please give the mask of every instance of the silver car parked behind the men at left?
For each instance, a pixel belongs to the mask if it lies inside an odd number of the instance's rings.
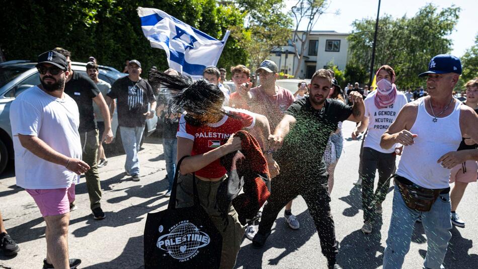
[[[40,84],[40,76],[35,68],[36,62],[15,60],[0,63],[0,174],[5,170],[9,160],[14,159],[12,142],[12,128],[10,126],[10,104],[15,97],[28,88]],[[71,62],[71,69],[75,72],[86,74],[86,63]],[[110,66],[99,66],[98,78],[113,84],[117,79],[126,76]],[[144,136],[149,136],[156,129],[157,117],[146,120]],[[123,146],[119,136],[118,114],[115,111],[111,123],[115,139],[107,148],[122,152]],[[142,143],[142,141],[141,141]]]

